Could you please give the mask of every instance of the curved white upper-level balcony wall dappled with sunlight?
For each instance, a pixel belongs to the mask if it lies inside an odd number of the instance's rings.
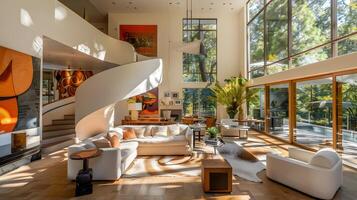
[[[111,38],[57,0],[2,0],[0,45],[42,57],[42,36],[118,65],[135,62],[127,42]]]

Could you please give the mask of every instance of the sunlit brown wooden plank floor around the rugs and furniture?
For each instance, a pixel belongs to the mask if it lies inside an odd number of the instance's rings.
[[[257,141],[261,141],[257,143]],[[286,154],[289,145],[268,136],[250,133],[245,148],[263,158],[266,152]],[[94,193],[74,197],[75,183],[67,181],[67,155],[62,150],[0,177],[0,199],[313,199],[275,183],[259,173],[263,183],[235,177],[231,194],[205,194],[200,177],[121,178],[94,182]],[[335,199],[357,198],[357,172],[344,168],[344,184]]]

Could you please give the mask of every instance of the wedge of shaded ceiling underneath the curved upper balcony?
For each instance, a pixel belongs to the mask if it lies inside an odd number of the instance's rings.
[[[116,64],[105,62],[66,46],[48,37],[43,37],[43,62],[45,69],[83,69],[102,71]]]

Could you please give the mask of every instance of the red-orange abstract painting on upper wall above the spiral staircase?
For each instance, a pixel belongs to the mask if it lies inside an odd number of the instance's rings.
[[[157,25],[120,25],[120,40],[129,42],[141,55],[157,57]]]

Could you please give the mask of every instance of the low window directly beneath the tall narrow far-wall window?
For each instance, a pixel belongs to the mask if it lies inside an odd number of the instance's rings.
[[[184,88],[183,112],[185,116],[216,116],[216,99],[209,88]]]

